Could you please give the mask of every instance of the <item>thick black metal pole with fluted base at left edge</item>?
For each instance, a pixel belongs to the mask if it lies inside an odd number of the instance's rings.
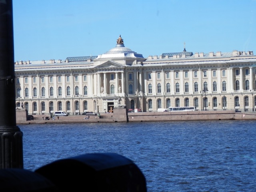
[[[16,126],[12,0],[0,1],[0,168],[23,168],[20,128]]]

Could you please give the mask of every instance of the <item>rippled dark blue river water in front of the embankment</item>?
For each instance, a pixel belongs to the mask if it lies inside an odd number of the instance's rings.
[[[256,191],[256,121],[22,124],[24,169],[87,153],[132,160],[148,192]]]

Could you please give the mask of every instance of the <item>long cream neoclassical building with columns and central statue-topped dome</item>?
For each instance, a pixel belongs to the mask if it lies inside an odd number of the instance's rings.
[[[16,106],[28,114],[113,112],[118,104],[142,112],[170,106],[254,111],[252,51],[163,53],[144,58],[124,46],[98,56],[15,63]]]

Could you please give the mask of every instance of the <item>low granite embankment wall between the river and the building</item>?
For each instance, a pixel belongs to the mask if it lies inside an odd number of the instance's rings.
[[[100,116],[70,115],[43,120],[45,115],[34,115],[31,119],[24,113],[16,111],[17,124],[45,123],[93,123],[93,122],[150,122],[150,121],[184,121],[184,120],[256,120],[256,112],[239,112],[234,110],[190,111],[190,112],[138,112],[126,113],[126,110],[114,113],[102,113]]]

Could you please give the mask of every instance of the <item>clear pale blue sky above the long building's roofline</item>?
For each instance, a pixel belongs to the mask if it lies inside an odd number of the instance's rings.
[[[256,0],[13,0],[14,61],[254,51]]]

